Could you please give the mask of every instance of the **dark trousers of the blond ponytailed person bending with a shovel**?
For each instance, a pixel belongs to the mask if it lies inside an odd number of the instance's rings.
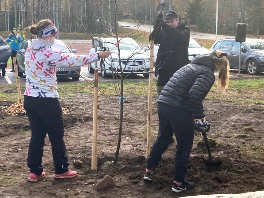
[[[178,149],[175,157],[173,179],[183,182],[187,173],[187,165],[192,150],[194,136],[194,120],[192,114],[184,109],[158,103],[159,131],[158,136],[147,157],[147,168],[154,170],[161,161],[162,153],[167,149],[173,134]]]

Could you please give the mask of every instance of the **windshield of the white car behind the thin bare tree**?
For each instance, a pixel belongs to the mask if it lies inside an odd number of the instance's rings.
[[[109,50],[118,50],[115,46],[116,41],[107,41],[105,43],[105,47],[108,47]],[[128,40],[121,40],[119,43],[119,48],[121,50],[141,50],[141,47],[138,45],[136,41],[128,41]]]

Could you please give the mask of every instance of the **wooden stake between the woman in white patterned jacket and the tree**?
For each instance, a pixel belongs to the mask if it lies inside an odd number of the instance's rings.
[[[98,69],[95,69],[92,170],[97,170]]]

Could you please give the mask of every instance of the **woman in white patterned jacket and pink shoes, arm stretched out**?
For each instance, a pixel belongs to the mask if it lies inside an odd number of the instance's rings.
[[[55,167],[53,177],[72,178],[76,171],[68,168],[68,158],[64,144],[64,126],[59,101],[56,66],[76,67],[87,65],[100,58],[107,58],[110,52],[99,52],[76,56],[60,53],[51,48],[57,29],[49,19],[41,20],[29,27],[30,33],[37,35],[25,52],[26,90],[24,108],[29,118],[31,139],[28,152],[28,181],[34,182],[45,177],[42,155],[46,134],[52,146]]]

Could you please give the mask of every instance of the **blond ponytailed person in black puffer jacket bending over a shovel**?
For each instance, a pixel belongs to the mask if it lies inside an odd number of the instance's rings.
[[[217,85],[224,91],[229,82],[229,62],[227,55],[219,50],[211,54],[201,54],[192,62],[175,72],[158,97],[159,131],[147,157],[144,179],[153,180],[153,170],[159,164],[162,153],[167,149],[173,134],[178,149],[175,157],[173,192],[194,188],[194,182],[184,181],[194,128],[208,129],[204,117],[203,99],[215,82],[214,72],[219,72]]]

